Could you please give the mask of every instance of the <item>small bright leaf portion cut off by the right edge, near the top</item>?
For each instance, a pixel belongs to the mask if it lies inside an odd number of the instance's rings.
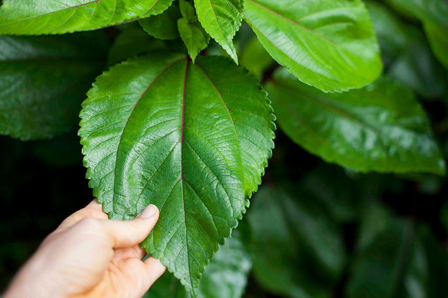
[[[425,32],[434,54],[448,69],[448,26],[426,21]]]

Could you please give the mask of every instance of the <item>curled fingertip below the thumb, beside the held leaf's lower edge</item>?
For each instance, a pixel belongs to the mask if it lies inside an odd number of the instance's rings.
[[[135,297],[142,297],[154,282],[162,276],[166,267],[160,260],[149,257],[144,262],[129,258],[123,261],[122,268],[133,281]]]

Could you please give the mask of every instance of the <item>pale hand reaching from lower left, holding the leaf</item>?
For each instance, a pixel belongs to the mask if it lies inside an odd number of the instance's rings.
[[[108,220],[95,200],[49,234],[3,298],[141,298],[165,266],[139,243],[159,218],[154,205],[134,220]]]

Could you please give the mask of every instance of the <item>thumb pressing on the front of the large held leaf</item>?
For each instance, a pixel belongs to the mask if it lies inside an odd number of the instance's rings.
[[[159,210],[148,205],[131,221],[100,221],[102,230],[112,241],[112,247],[131,247],[143,241],[159,219]]]

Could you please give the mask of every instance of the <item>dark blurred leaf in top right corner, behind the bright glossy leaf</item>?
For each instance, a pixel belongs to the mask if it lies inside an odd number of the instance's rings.
[[[423,97],[442,95],[447,85],[446,72],[423,32],[380,3],[369,1],[367,7],[386,64],[385,73]]]

